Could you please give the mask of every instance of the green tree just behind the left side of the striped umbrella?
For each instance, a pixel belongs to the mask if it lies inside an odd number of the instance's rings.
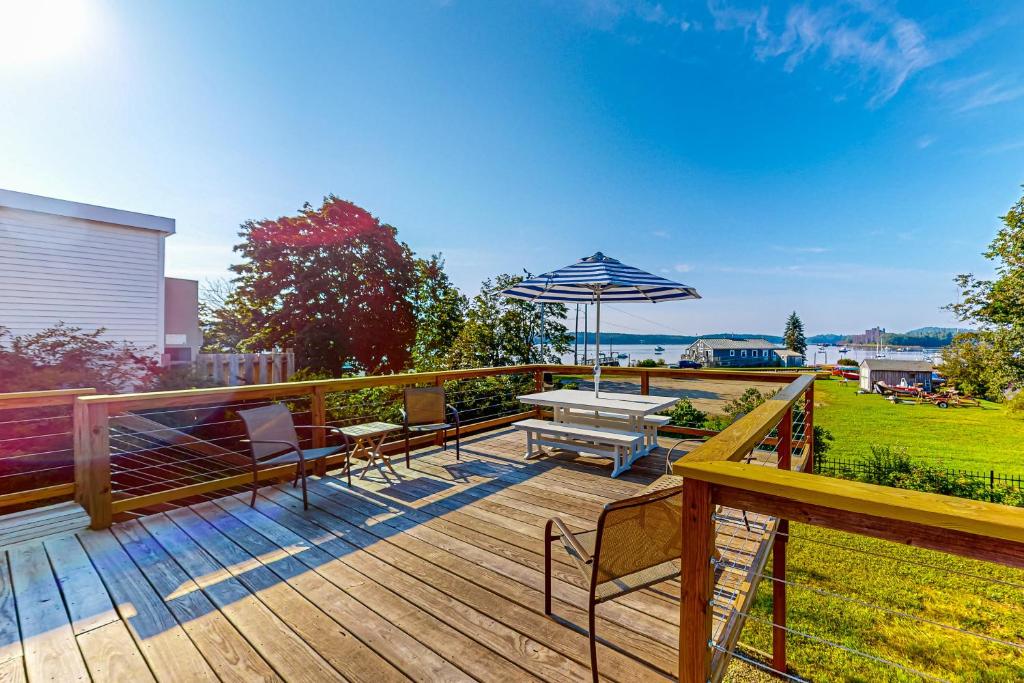
[[[450,362],[455,368],[513,366],[527,362],[557,362],[568,352],[572,339],[563,304],[547,304],[545,310],[545,354],[538,344],[541,334],[539,305],[502,296],[502,290],[520,282],[520,275],[502,274],[485,280],[473,297],[463,326],[453,346]]]

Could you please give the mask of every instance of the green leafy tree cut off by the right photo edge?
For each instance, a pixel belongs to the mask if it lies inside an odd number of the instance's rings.
[[[957,275],[961,300],[946,306],[978,330],[956,335],[940,367],[959,389],[992,400],[1024,384],[1024,196],[1001,220],[984,252],[995,276]]]

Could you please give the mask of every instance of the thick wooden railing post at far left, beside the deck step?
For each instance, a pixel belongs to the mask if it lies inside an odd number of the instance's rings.
[[[111,429],[106,403],[75,401],[75,500],[91,528],[111,525]]]

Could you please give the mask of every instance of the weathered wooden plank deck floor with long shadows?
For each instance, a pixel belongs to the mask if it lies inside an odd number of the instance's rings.
[[[310,480],[22,544],[2,557],[0,680],[566,681],[590,679],[586,592],[555,550],[542,613],[544,521],[592,527],[601,506],[664,472],[665,451],[611,479],[569,454],[524,462],[510,429],[419,452],[385,481]],[[726,512],[728,515],[728,512]],[[737,517],[738,519],[738,517]],[[720,525],[742,604],[764,520]],[[745,567],[745,568],[744,568]],[[677,668],[678,582],[598,607],[599,668],[614,681]],[[735,629],[716,620],[716,637]]]

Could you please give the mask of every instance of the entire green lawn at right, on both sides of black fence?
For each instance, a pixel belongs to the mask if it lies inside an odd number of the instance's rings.
[[[838,381],[815,384],[815,421],[835,434],[837,457],[900,444],[950,467],[1024,470],[1024,420],[1001,407],[893,405],[855,391]],[[939,680],[1024,680],[1024,571],[805,524],[793,524],[791,535],[787,626],[812,636],[791,634],[794,673],[815,681],[921,680],[905,667]],[[771,650],[771,589],[764,580],[741,638],[762,651]]]

